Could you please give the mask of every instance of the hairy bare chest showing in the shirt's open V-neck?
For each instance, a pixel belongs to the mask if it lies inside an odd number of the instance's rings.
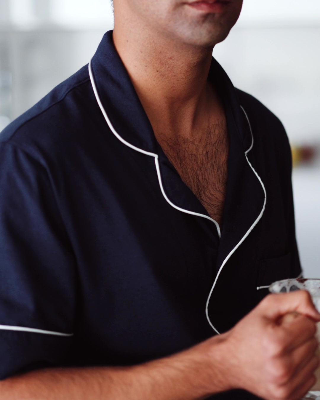
[[[157,136],[164,153],[211,218],[222,222],[228,177],[229,140],[226,124],[213,124],[189,139]]]

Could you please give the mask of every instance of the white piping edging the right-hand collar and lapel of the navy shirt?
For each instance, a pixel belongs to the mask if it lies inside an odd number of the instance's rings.
[[[244,110],[244,108],[243,108],[242,106],[241,106],[241,108],[242,108],[242,111],[244,112],[244,115],[246,116],[247,121],[248,121],[249,128],[250,128],[250,133],[251,133],[251,138],[252,138],[251,146],[248,148],[248,150],[246,150],[246,152],[245,152],[244,154],[245,154],[245,156],[246,156],[246,160],[247,160],[247,162],[248,162],[250,168],[252,169],[252,171],[254,172],[254,174],[256,175],[256,177],[258,178],[258,180],[259,180],[259,182],[260,182],[260,184],[261,184],[261,186],[262,186],[262,189],[263,189],[263,191],[264,191],[264,203],[263,203],[262,210],[261,210],[260,214],[258,215],[258,218],[257,218],[257,219],[254,221],[254,223],[250,226],[249,230],[246,232],[246,234],[243,236],[243,238],[240,240],[240,242],[236,245],[236,247],[234,247],[234,248],[231,250],[231,252],[228,254],[228,256],[227,256],[227,257],[224,259],[224,261],[222,262],[222,264],[221,264],[221,266],[220,266],[220,269],[219,269],[219,271],[218,271],[218,274],[217,274],[217,276],[216,276],[216,279],[214,280],[214,283],[213,283],[212,288],[211,288],[211,290],[210,290],[210,293],[209,293],[209,296],[208,296],[208,300],[207,300],[207,302],[206,302],[206,317],[207,317],[207,320],[208,320],[208,322],[209,322],[211,328],[212,328],[217,334],[220,334],[220,332],[218,332],[218,330],[213,326],[212,322],[210,321],[209,314],[208,314],[208,306],[209,306],[209,302],[210,302],[210,298],[211,298],[212,292],[213,292],[213,290],[214,290],[214,287],[216,286],[216,283],[217,283],[217,280],[218,280],[218,278],[219,278],[219,275],[220,275],[220,273],[221,273],[221,271],[222,271],[222,268],[226,265],[226,262],[229,260],[229,258],[232,256],[232,254],[237,250],[237,248],[240,246],[240,244],[242,244],[242,242],[244,242],[244,240],[248,237],[248,235],[250,234],[250,232],[253,230],[253,228],[256,226],[256,224],[258,224],[258,222],[259,222],[260,219],[262,218],[262,215],[263,215],[264,210],[265,210],[265,208],[266,208],[266,201],[267,201],[266,188],[264,187],[264,184],[263,184],[263,182],[262,182],[260,176],[256,173],[256,171],[254,170],[254,168],[253,168],[253,166],[251,165],[250,161],[248,160],[247,154],[248,154],[248,152],[250,152],[250,150],[252,149],[254,140],[253,140],[252,128],[251,128],[251,124],[250,124],[248,115],[247,115],[247,113],[245,112],[245,110]]]

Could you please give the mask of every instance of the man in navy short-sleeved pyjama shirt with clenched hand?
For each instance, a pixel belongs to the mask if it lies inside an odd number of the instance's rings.
[[[211,56],[241,6],[115,0],[90,65],[0,135],[0,398],[314,384],[310,296],[258,304],[301,268],[284,129]]]

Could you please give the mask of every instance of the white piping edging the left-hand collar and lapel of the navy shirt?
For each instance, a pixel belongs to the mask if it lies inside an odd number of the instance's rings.
[[[176,208],[176,210],[185,212],[186,214],[195,215],[195,216],[198,216],[198,217],[203,217],[203,218],[206,218],[207,220],[212,221],[212,222],[216,225],[216,228],[217,228],[217,231],[218,231],[218,236],[219,236],[219,239],[220,239],[220,237],[221,237],[221,232],[220,232],[220,226],[219,226],[218,222],[216,222],[214,219],[210,218],[210,217],[207,216],[207,215],[199,214],[198,212],[188,211],[188,210],[185,210],[184,208],[180,208],[180,207],[176,206],[174,203],[172,203],[172,202],[169,200],[168,196],[166,195],[166,192],[164,191],[163,185],[162,185],[162,179],[161,179],[161,174],[160,174],[160,166],[159,166],[159,161],[158,161],[158,158],[159,158],[159,157],[158,157],[158,154],[155,154],[155,153],[152,153],[152,152],[147,152],[147,151],[145,151],[145,150],[142,150],[142,149],[140,149],[140,148],[134,146],[133,144],[131,144],[131,143],[127,142],[126,140],[124,140],[124,139],[118,134],[118,132],[116,132],[116,130],[115,130],[114,127],[112,126],[112,124],[111,124],[111,122],[110,122],[110,119],[109,119],[109,117],[108,117],[108,115],[107,115],[107,113],[106,113],[106,110],[104,109],[104,107],[103,107],[103,105],[102,105],[102,102],[101,102],[101,100],[100,100],[100,97],[99,97],[99,94],[98,94],[98,90],[97,90],[97,87],[96,87],[96,82],[94,81],[94,76],[93,76],[93,73],[92,73],[91,62],[92,62],[92,60],[90,60],[90,62],[89,62],[89,76],[90,76],[92,88],[93,88],[93,91],[94,91],[94,96],[96,96],[96,100],[97,100],[97,102],[98,102],[98,105],[99,105],[99,107],[100,107],[100,110],[101,110],[101,112],[102,112],[102,114],[103,114],[103,116],[104,116],[104,119],[106,120],[106,122],[107,122],[107,124],[108,124],[108,126],[109,126],[109,128],[110,128],[110,130],[111,130],[111,132],[112,132],[123,144],[125,144],[126,146],[132,148],[133,150],[136,150],[136,151],[139,152],[139,153],[146,154],[147,156],[152,156],[152,157],[154,157],[154,161],[155,161],[155,164],[156,164],[156,171],[157,171],[157,176],[158,176],[158,181],[159,181],[160,189],[161,189],[162,195],[163,195],[163,197],[165,198],[165,200],[170,204],[170,206],[172,206],[173,208]]]

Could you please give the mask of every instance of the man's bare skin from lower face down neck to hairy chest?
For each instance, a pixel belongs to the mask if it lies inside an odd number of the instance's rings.
[[[220,225],[229,140],[207,77],[212,49],[236,23],[242,0],[216,13],[184,1],[116,0],[113,40],[162,150]]]

